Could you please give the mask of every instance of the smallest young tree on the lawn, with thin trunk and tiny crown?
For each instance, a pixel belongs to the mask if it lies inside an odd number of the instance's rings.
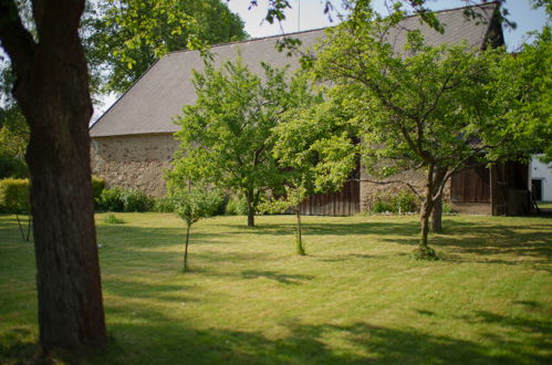
[[[198,220],[215,215],[222,204],[222,195],[206,184],[178,184],[181,179],[173,177],[169,182],[169,196],[175,206],[175,212],[186,223],[186,243],[184,248],[183,272],[188,270],[188,242],[191,225]]]

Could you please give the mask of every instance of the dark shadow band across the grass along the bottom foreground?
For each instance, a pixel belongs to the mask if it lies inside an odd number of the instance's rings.
[[[192,328],[152,312],[128,316],[123,309],[108,310],[107,348],[70,363],[91,364],[504,364],[546,363],[544,341],[527,342],[506,335],[486,336],[486,342],[434,335],[412,327],[392,328],[356,322],[351,325],[283,325],[287,335],[271,338],[261,332],[227,328]],[[544,338],[550,323],[506,319],[480,312],[477,321],[512,331],[529,328]],[[9,337],[11,336],[11,337]],[[24,363],[33,345],[17,336],[0,338],[2,355]],[[531,338],[528,336],[527,338]]]

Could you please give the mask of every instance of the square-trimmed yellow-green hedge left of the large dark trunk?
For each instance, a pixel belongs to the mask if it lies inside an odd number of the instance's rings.
[[[18,215],[31,212],[29,179],[0,180],[0,209]]]

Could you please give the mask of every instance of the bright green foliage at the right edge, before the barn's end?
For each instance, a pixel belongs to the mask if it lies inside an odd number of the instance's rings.
[[[493,155],[529,157],[544,154],[552,160],[552,30],[550,24],[537,34],[533,43],[520,52],[504,55],[496,64],[496,77],[487,87],[494,93],[491,108],[501,127],[497,134],[510,139]]]

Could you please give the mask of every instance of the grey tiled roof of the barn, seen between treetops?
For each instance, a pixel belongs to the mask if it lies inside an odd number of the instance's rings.
[[[476,11],[488,21],[468,20],[464,15],[465,8],[445,10],[437,13],[445,25],[440,34],[421,23],[417,17],[406,18],[394,32],[390,41],[396,50],[405,42],[406,30],[421,30],[428,44],[457,44],[467,41],[481,48],[486,42],[491,19],[497,9],[496,3],[478,6]],[[324,30],[313,30],[287,34],[302,41],[306,50],[324,36]],[[275,67],[290,65],[290,70],[299,67],[296,58],[287,56],[274,45],[282,35],[253,39],[236,43],[211,46],[215,66],[228,60],[235,60],[238,53],[253,72],[262,74],[260,63],[267,62]],[[178,131],[173,123],[175,116],[181,114],[183,105],[194,104],[195,88],[191,83],[191,71],[201,71],[204,63],[197,51],[174,52],[157,61],[118,101],[105,112],[91,127],[92,137],[105,137],[133,134],[159,134]]]

